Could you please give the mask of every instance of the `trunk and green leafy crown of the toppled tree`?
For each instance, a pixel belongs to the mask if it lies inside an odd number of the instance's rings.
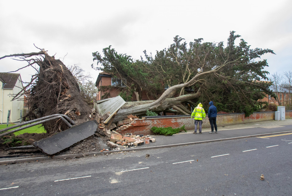
[[[175,43],[168,49],[157,51],[154,58],[144,51],[146,60],[141,58],[141,61],[117,54],[111,46],[103,49],[103,57],[98,52],[93,53],[97,67],[92,65],[92,68],[120,78],[126,86],[121,88],[121,96],[135,95],[137,100],[123,105],[115,121],[129,114],[145,114],[147,110],[190,114],[189,105],[195,107],[194,101],[207,106],[210,100],[220,103],[222,111],[252,114],[262,104],[259,99],[265,94],[272,95],[270,84],[256,82],[267,79],[268,73],[262,70],[268,66],[267,61],[258,59],[274,52],[250,49],[243,39],[235,45],[240,35],[234,33],[230,32],[226,47],[223,42],[203,43],[202,38],[188,46],[186,42],[182,43],[184,39],[176,36]],[[189,93],[190,90],[193,93]],[[156,100],[141,101],[142,91]]]

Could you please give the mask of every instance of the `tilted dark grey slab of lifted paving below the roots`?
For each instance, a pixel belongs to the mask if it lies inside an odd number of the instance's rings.
[[[87,121],[57,133],[52,137],[34,142],[33,145],[40,148],[41,151],[48,155],[54,155],[66,148],[71,147],[75,143],[92,136],[97,127],[98,124],[95,120]]]

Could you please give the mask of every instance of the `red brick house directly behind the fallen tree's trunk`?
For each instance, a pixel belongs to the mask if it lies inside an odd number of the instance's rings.
[[[95,86],[98,88],[96,94],[96,100],[103,100],[111,97],[116,97],[121,93],[121,90],[125,88],[125,84],[120,78],[113,77],[112,74],[107,72],[100,72],[98,74]],[[132,95],[132,100],[136,100],[135,94]],[[142,91],[141,100],[155,100],[153,97],[148,97],[146,91]]]

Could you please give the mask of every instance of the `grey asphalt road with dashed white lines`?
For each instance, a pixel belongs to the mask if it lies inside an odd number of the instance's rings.
[[[292,195],[291,155],[286,133],[0,165],[0,194]]]

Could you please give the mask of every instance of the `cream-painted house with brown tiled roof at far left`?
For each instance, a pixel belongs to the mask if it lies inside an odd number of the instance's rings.
[[[8,110],[10,110],[9,123],[20,121],[20,113],[23,110],[23,96],[18,100],[12,100],[23,88],[19,73],[0,73],[0,123],[7,123]]]

